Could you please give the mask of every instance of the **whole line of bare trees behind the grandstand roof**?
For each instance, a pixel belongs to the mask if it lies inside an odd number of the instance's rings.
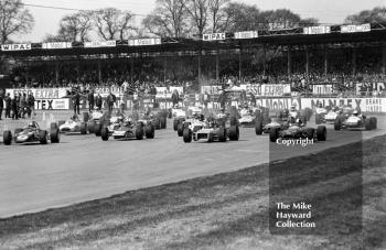
[[[156,0],[156,8],[136,25],[129,10],[105,8],[82,10],[62,17],[55,34],[44,42],[85,42],[163,36],[192,37],[204,33],[253,30],[282,30],[318,25],[314,18],[302,19],[288,9],[260,10],[256,4],[230,0]],[[386,25],[386,8],[374,8],[345,18],[345,23]],[[21,0],[0,0],[1,43],[32,31],[34,18]],[[18,41],[17,41],[18,42]]]

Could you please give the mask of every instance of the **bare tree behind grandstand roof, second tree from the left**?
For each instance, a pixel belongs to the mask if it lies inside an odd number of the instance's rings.
[[[79,11],[65,15],[60,23],[58,34],[51,36],[54,40],[68,42],[85,42],[93,30],[93,14],[90,11]]]

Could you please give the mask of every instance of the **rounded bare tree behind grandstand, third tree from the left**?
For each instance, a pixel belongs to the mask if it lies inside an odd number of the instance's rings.
[[[104,40],[125,40],[130,32],[137,31],[132,25],[133,14],[116,8],[100,9],[94,12],[98,34]]]

